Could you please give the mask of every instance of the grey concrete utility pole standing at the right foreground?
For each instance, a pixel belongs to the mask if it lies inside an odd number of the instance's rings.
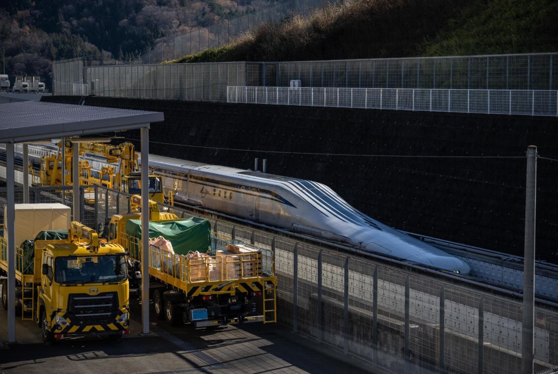
[[[535,346],[535,212],[537,193],[537,147],[527,147],[527,183],[525,194],[525,253],[523,260],[523,329],[521,372],[533,372]]]

